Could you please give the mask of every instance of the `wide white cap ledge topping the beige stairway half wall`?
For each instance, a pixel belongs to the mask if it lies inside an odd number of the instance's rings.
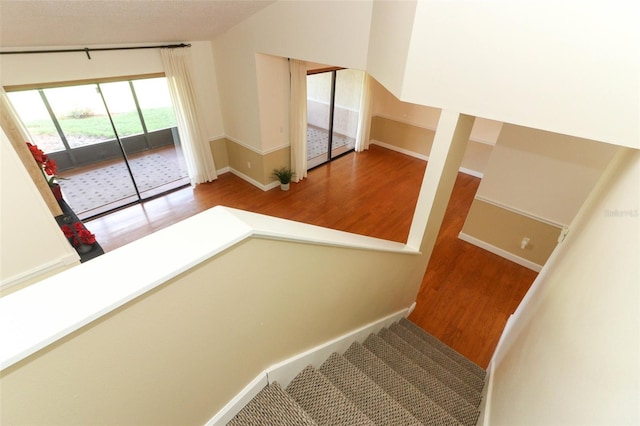
[[[207,238],[192,237],[205,228]],[[249,238],[418,254],[393,241],[216,206],[0,297],[0,370]],[[179,249],[166,250],[169,243]]]

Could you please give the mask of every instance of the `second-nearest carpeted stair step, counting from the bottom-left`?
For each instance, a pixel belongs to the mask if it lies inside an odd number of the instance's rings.
[[[311,366],[289,383],[287,393],[318,425],[375,425],[329,379]]]

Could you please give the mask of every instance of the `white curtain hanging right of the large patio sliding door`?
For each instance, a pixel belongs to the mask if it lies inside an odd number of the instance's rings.
[[[216,179],[216,167],[209,141],[198,121],[196,92],[191,74],[191,52],[188,48],[161,49],[171,102],[178,122],[180,143],[191,185]]]

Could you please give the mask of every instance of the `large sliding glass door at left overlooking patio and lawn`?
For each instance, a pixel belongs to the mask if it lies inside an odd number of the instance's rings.
[[[188,184],[164,78],[8,95],[82,219]]]

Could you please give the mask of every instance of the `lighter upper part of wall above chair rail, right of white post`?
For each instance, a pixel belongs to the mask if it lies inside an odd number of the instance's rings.
[[[477,195],[568,225],[615,149],[587,139],[505,124]]]

